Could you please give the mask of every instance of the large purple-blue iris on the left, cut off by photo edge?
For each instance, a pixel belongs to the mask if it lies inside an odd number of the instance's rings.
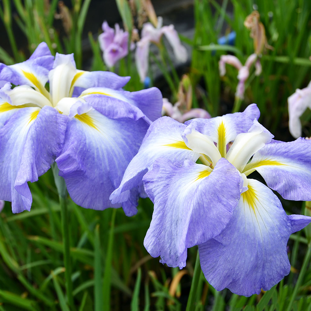
[[[0,64],[0,80],[8,81],[0,89],[0,199],[14,213],[30,210],[27,182],[56,161],[78,205],[120,207],[109,195],[161,115],[160,91],[123,91],[129,77],[77,70],[73,54],[54,59],[45,43],[23,63]],[[130,196],[137,199],[138,190]]]

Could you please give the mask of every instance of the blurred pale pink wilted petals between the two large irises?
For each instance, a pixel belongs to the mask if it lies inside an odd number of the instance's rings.
[[[180,102],[176,102],[174,105],[169,102],[167,98],[163,98],[162,115],[167,115],[180,123],[184,123],[187,120],[193,118],[209,119],[211,115],[204,109],[192,108],[185,113],[179,110]]]

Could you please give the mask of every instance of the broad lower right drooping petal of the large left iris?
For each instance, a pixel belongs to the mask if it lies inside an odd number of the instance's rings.
[[[109,196],[120,184],[147,128],[142,119],[111,119],[95,109],[71,118],[56,162],[72,200],[96,210],[120,207],[111,204]]]

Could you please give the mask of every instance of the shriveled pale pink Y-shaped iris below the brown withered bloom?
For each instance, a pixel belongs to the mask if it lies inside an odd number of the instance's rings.
[[[245,91],[245,82],[249,77],[249,70],[251,66],[255,63],[255,75],[259,76],[262,72],[261,63],[258,59],[258,55],[253,53],[248,56],[245,65],[243,66],[239,59],[233,55],[221,55],[219,61],[219,73],[220,76],[224,76],[226,73],[226,64],[229,64],[236,69],[239,70],[238,72],[238,86],[236,88],[235,96],[240,98],[241,100],[244,99],[244,91]]]

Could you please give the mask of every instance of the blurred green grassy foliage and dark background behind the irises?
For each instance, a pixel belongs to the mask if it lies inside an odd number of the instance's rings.
[[[99,4],[95,0],[2,0],[0,61],[24,61],[45,41],[53,54],[74,53],[78,69],[107,70],[97,41],[102,21],[108,20],[110,26],[120,22],[131,32],[141,26],[144,18],[147,21],[142,14],[143,1],[111,0]],[[230,113],[237,70],[227,66],[226,75],[220,77],[218,62],[221,54],[230,53],[244,64],[254,53],[244,20],[257,10],[267,43],[273,49],[264,50],[260,56],[262,73],[251,73],[240,110],[256,103],[261,110],[260,122],[276,139],[292,140],[287,98],[311,79],[311,2],[177,2],[153,4],[156,13],[161,9],[169,12],[176,29],[181,30],[180,38],[189,52],[188,62],[174,63],[166,43],[160,53],[151,50],[149,86],[158,86],[165,97],[175,102],[181,77],[188,74],[193,107],[205,108],[212,116]],[[168,9],[163,11],[163,7]],[[191,31],[184,31],[189,25]],[[236,34],[234,45],[220,44],[219,38],[232,31]],[[132,52],[113,70],[132,77],[128,90],[144,87]],[[309,114],[310,111],[303,116],[304,136],[311,135]],[[141,199],[137,215],[131,218],[122,209],[94,211],[69,202],[72,304],[65,290],[61,215],[52,172],[30,184],[30,188],[30,212],[13,215],[10,203],[6,203],[0,214],[0,310],[311,310],[309,231],[291,236],[289,276],[260,295],[237,296],[229,290],[217,292],[202,272],[193,271],[196,247],[188,250],[187,266],[180,271],[151,258],[143,247],[153,211],[149,199]],[[283,205],[288,213],[304,212],[300,203]],[[195,293],[190,292],[193,274],[199,278]]]

